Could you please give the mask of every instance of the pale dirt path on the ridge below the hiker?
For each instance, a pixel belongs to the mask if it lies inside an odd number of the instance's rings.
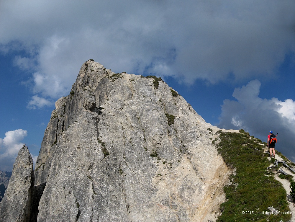
[[[265,149],[265,152],[266,152],[266,151],[268,151],[268,149]],[[268,159],[270,160],[271,158],[268,157]],[[283,160],[284,160],[283,158],[281,158],[281,156],[278,156],[277,154],[276,154],[275,159],[277,159],[277,160],[279,160],[279,161],[283,161]],[[288,164],[288,165],[289,165],[289,164]],[[273,166],[273,164],[271,164],[270,166]],[[290,166],[290,165],[289,165],[289,166]],[[282,169],[283,169],[286,173],[292,175],[292,176],[294,177],[294,179],[295,179],[295,174],[294,174],[291,170],[289,170],[289,169],[286,168],[286,167],[282,167]],[[281,179],[280,177],[278,177],[278,174],[275,174],[275,179],[276,179],[277,181],[279,181],[279,182],[283,185],[284,189],[286,190],[286,193],[287,193],[287,195],[286,195],[286,196],[287,196],[287,201],[288,201],[288,203],[289,203],[289,208],[290,208],[291,213],[292,213],[292,218],[291,218],[290,221],[295,221],[295,204],[294,204],[293,199],[292,199],[292,197],[291,197],[291,195],[290,195],[290,191],[291,191],[291,189],[290,189],[290,185],[291,185],[291,183],[290,183],[289,180],[287,180],[287,179]]]

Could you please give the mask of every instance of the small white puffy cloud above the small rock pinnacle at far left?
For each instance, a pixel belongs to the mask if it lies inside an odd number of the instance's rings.
[[[11,171],[19,149],[24,145],[21,141],[27,136],[27,130],[12,130],[0,138],[0,162],[2,171]]]

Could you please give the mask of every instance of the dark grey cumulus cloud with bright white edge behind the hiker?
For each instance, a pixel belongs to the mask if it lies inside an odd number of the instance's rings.
[[[220,128],[244,129],[262,141],[267,141],[268,131],[278,133],[276,149],[295,161],[295,101],[259,97],[260,81],[252,80],[242,88],[236,88],[225,99],[219,117]]]

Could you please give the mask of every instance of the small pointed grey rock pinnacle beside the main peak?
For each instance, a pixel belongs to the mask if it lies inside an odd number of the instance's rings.
[[[29,221],[31,192],[34,185],[32,156],[23,146],[13,164],[9,185],[0,203],[0,221]]]

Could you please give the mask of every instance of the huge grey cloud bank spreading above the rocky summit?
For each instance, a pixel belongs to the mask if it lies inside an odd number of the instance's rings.
[[[274,74],[295,50],[294,11],[294,1],[275,0],[1,1],[0,48],[27,52],[15,65],[36,64],[32,84],[43,97],[67,94],[88,59],[216,83]]]

